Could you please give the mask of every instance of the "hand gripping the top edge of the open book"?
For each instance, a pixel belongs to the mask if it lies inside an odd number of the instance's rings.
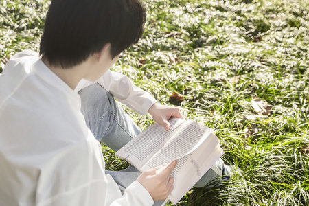
[[[153,104],[149,108],[148,113],[150,113],[155,122],[164,126],[165,130],[170,130],[170,122],[168,122],[170,117],[184,119],[180,108],[165,106],[159,103]]]

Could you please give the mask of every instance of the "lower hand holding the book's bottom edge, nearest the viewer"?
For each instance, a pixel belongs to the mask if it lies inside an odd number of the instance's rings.
[[[172,161],[168,166],[161,165],[157,168],[146,170],[137,178],[137,181],[146,188],[154,201],[165,200],[174,189],[174,179],[170,174],[176,167],[176,163],[176,161]],[[166,168],[162,168],[165,166]]]

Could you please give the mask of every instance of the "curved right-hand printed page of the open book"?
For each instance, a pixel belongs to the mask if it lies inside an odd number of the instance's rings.
[[[174,135],[141,168],[142,171],[179,159],[175,170],[181,168],[185,155],[195,150],[211,133],[211,129],[194,121],[185,122]],[[181,159],[183,157],[183,159]]]

